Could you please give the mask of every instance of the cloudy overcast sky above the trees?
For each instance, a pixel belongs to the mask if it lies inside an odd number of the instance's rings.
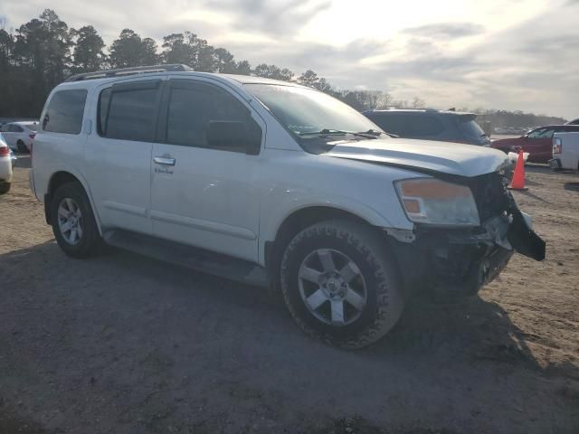
[[[14,28],[48,6],[107,43],[188,30],[338,88],[579,118],[579,0],[3,0],[0,17]]]

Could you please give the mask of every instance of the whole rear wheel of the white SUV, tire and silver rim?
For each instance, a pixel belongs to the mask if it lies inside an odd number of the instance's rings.
[[[51,222],[54,238],[72,258],[87,258],[101,239],[90,201],[81,184],[62,184],[52,196]]]

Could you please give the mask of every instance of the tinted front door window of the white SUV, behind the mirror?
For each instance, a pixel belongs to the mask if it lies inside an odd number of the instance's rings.
[[[250,117],[249,109],[224,90],[193,81],[171,83],[166,119],[166,141],[173,145],[209,147],[207,133],[215,121],[249,122],[250,132],[261,128]],[[240,140],[226,147],[245,152],[246,144]]]

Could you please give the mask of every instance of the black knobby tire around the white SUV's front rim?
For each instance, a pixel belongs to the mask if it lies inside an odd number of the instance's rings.
[[[289,242],[281,259],[281,292],[290,315],[307,335],[327,344],[356,349],[374,343],[394,327],[403,311],[403,288],[394,260],[389,258],[389,250],[379,235],[375,228],[362,223],[328,221],[300,231]],[[323,302],[319,312],[312,313],[304,299],[308,298],[304,288],[308,281],[299,278],[299,269],[314,258],[314,252],[326,250],[333,252],[334,261],[344,257],[351,259],[359,272],[356,278],[360,278],[358,282],[362,282],[365,288],[365,306],[359,309],[357,317],[353,315],[355,319],[349,324],[334,323],[331,300],[327,300],[327,305]],[[335,267],[339,268],[338,264]],[[322,265],[322,269],[327,268]],[[325,279],[321,281],[327,283]],[[318,292],[316,288],[321,290],[324,284],[318,286],[314,283],[313,287],[312,291]],[[347,288],[349,291],[350,283]],[[346,309],[351,311],[353,305],[348,305],[344,299],[342,301],[342,319],[345,320]],[[323,318],[322,309],[329,310],[327,316],[332,317]],[[332,324],[324,322],[330,319]]]

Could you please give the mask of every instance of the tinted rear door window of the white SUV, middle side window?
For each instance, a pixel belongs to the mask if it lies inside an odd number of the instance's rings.
[[[156,81],[138,81],[100,92],[99,134],[122,140],[151,141],[157,120]]]

